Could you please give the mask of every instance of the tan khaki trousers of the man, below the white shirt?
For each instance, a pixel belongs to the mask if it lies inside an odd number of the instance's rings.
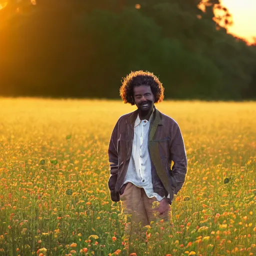
[[[122,212],[131,217],[131,222],[139,223],[141,226],[149,225],[151,221],[171,219],[171,208],[163,198],[157,201],[155,197],[148,198],[143,188],[128,182],[124,192],[120,195]]]

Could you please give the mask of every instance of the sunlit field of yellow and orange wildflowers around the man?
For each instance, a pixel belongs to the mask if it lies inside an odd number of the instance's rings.
[[[143,227],[136,255],[256,255],[256,102],[156,107],[178,122],[188,170],[173,226]],[[118,117],[134,109],[0,98],[0,255],[127,255],[107,146]]]

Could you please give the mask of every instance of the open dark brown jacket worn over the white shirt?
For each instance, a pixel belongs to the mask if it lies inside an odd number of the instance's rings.
[[[132,150],[134,122],[138,110],[122,115],[114,126],[108,146],[110,177],[108,188],[112,201],[120,200],[120,188],[128,168]],[[160,196],[169,194],[169,203],[182,187],[187,159],[178,124],[155,108],[148,132],[153,191]],[[174,162],[171,168],[171,160]]]

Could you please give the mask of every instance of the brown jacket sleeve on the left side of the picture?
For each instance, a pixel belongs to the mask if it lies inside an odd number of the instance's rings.
[[[118,120],[119,121],[119,120]],[[108,145],[108,161],[110,167],[110,177],[108,179],[108,188],[110,190],[110,196],[112,201],[119,201],[118,195],[116,195],[114,188],[117,180],[118,170],[118,152],[117,152],[117,129],[118,121],[112,131],[109,145]]]

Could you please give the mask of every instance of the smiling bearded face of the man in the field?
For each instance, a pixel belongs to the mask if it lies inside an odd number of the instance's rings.
[[[133,87],[134,102],[139,111],[150,112],[154,106],[154,95],[149,85]]]

